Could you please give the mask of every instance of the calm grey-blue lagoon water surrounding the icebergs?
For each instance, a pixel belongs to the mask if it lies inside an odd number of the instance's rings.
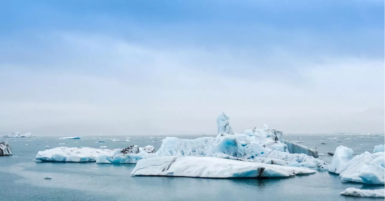
[[[258,200],[258,201],[337,201],[382,200],[340,196],[349,187],[380,189],[358,183],[343,183],[338,175],[318,171],[307,176],[284,179],[203,179],[182,177],[130,176],[135,164],[91,163],[36,163],[38,151],[58,146],[111,149],[131,144],[161,146],[164,137],[130,136],[129,142],[113,142],[111,138],[127,136],[82,137],[81,140],[58,137],[8,138],[13,156],[0,157],[0,201],[193,201],[193,200]],[[193,139],[202,136],[177,136]],[[338,141],[328,139],[337,137]],[[98,139],[101,138],[101,139]],[[373,151],[378,144],[385,144],[384,136],[321,136],[286,135],[289,141],[303,141],[303,145],[317,149],[319,153],[334,152],[338,145],[347,146],[360,154]],[[1,140],[5,140],[2,138]],[[98,140],[106,142],[95,143]],[[326,144],[321,144],[321,143]],[[65,143],[65,144],[60,144]],[[29,144],[29,145],[25,145]],[[331,156],[320,156],[330,163]],[[52,177],[50,180],[44,178]]]

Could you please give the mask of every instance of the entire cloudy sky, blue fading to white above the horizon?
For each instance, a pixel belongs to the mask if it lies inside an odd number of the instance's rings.
[[[385,133],[383,0],[0,1],[0,134]]]

